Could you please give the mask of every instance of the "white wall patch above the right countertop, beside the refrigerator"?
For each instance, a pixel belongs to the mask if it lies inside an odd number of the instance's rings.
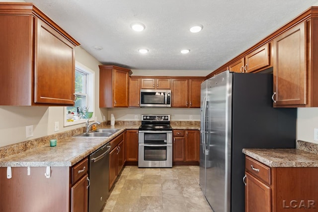
[[[318,108],[298,108],[297,110],[297,140],[314,141],[314,129],[318,129]]]

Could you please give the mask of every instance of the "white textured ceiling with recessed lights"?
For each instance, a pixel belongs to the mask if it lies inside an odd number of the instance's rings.
[[[318,0],[25,0],[102,64],[140,70],[215,70]],[[146,25],[143,32],[130,28]],[[193,24],[203,30],[191,33]],[[93,46],[101,46],[97,51]],[[139,48],[149,53],[140,54]],[[187,55],[183,48],[191,49]]]

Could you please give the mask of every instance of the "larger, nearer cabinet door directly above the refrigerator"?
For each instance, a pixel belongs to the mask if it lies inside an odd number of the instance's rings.
[[[269,66],[269,43],[262,45],[245,56],[245,73]]]

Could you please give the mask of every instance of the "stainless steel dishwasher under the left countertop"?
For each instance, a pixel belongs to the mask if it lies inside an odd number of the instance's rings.
[[[108,198],[110,147],[105,144],[89,155],[88,212],[99,212]]]

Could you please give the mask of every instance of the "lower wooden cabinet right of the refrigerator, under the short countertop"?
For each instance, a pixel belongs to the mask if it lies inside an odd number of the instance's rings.
[[[317,167],[268,167],[245,156],[245,212],[316,211]]]

